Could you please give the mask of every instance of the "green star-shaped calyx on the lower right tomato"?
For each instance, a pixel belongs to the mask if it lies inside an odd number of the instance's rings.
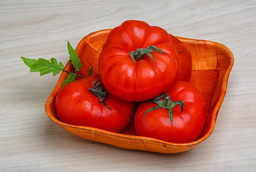
[[[163,97],[164,97],[164,101],[160,100]],[[146,110],[144,113],[144,118],[145,118],[146,113],[148,113],[149,111],[153,111],[155,109],[160,109],[160,108],[168,109],[168,116],[169,116],[172,126],[173,126],[173,108],[177,105],[180,105],[181,113],[182,113],[184,106],[185,106],[184,102],[182,102],[181,100],[172,101],[171,97],[166,93],[161,94],[160,96],[158,96],[154,99],[150,99],[147,102],[154,102],[157,104],[157,106],[151,107],[150,109]]]

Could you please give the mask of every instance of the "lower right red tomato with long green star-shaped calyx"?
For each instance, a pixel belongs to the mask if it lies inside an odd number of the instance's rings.
[[[176,81],[166,94],[139,105],[134,124],[137,135],[188,143],[200,136],[205,118],[205,101],[198,89]]]

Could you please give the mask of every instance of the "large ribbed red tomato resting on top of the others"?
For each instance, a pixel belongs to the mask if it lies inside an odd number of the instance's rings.
[[[110,94],[127,101],[144,101],[162,94],[173,83],[178,52],[163,28],[128,20],[110,31],[98,65]]]

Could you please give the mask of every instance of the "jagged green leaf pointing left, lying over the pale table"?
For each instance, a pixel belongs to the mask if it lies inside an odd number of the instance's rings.
[[[60,73],[64,69],[64,65],[61,62],[57,62],[56,59],[28,59],[20,57],[22,61],[30,68],[30,72],[40,72],[40,75],[53,73],[53,76]]]

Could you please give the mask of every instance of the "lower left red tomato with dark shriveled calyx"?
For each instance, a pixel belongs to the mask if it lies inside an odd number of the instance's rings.
[[[91,75],[63,86],[55,100],[58,118],[67,124],[117,133],[130,122],[133,102],[108,94],[98,80],[99,76]],[[93,92],[98,92],[98,96]]]

